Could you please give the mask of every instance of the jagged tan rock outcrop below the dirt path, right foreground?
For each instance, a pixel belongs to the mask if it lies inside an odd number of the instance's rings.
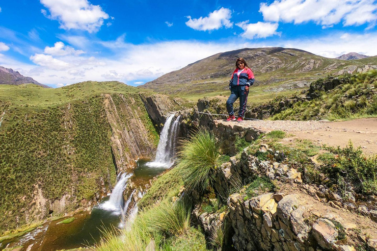
[[[226,130],[222,123],[215,123],[214,131],[220,141],[228,141],[228,146],[235,144],[237,138],[246,138],[250,130],[266,132],[254,127],[241,129],[237,124],[225,127]],[[288,151],[259,146],[258,154],[250,153],[249,148],[255,151],[250,146],[221,166],[216,178],[218,186],[234,187],[235,180],[241,184],[240,192],[228,197],[226,210],[206,212],[205,200],[195,206],[194,219],[209,238],[220,229],[238,251],[377,250],[376,196],[361,199],[350,193],[341,197],[314,181],[307,171],[318,162],[305,162],[307,166],[287,164],[284,152]],[[277,191],[263,192],[267,183],[261,183],[250,196],[248,185],[242,183],[258,177],[272,181]]]

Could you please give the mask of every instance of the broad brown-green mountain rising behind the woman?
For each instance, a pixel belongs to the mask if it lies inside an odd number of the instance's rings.
[[[217,53],[162,75],[139,88],[192,100],[203,96],[228,95],[228,80],[238,57],[245,58],[254,72],[253,90],[265,93],[307,88],[310,82],[321,76],[364,72],[365,65],[377,65],[377,57],[369,57],[366,64],[357,60],[326,58],[298,49],[245,48]]]

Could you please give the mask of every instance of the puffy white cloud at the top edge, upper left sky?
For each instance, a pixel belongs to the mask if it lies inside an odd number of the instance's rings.
[[[41,12],[49,19],[59,21],[62,29],[82,29],[89,33],[96,32],[109,16],[99,5],[87,0],[40,0],[49,9]]]

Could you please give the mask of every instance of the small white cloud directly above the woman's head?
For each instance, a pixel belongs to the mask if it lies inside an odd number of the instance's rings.
[[[248,24],[248,20],[236,24],[237,26],[241,27],[244,32],[241,34],[242,37],[253,39],[253,38],[266,38],[272,35],[278,34],[276,32],[277,27],[279,26],[277,23],[264,23],[258,22],[256,24]]]

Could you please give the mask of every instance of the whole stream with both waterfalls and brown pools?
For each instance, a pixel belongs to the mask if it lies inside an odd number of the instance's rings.
[[[175,141],[181,116],[174,120],[170,114],[162,128],[160,141],[154,160],[138,160],[137,167],[129,173],[120,173],[112,194],[105,197],[91,211],[81,211],[74,215],[49,221],[20,237],[14,237],[0,243],[0,251],[56,251],[94,246],[104,235],[106,229],[123,228],[135,219],[137,204],[131,203],[136,189],[129,199],[124,201],[123,191],[129,181],[136,187],[143,187],[149,180],[158,176],[174,163]],[[136,194],[141,198],[143,194]],[[123,214],[122,214],[123,212]],[[122,220],[122,215],[123,220]],[[73,219],[70,223],[62,221]],[[22,247],[21,247],[22,246]]]

